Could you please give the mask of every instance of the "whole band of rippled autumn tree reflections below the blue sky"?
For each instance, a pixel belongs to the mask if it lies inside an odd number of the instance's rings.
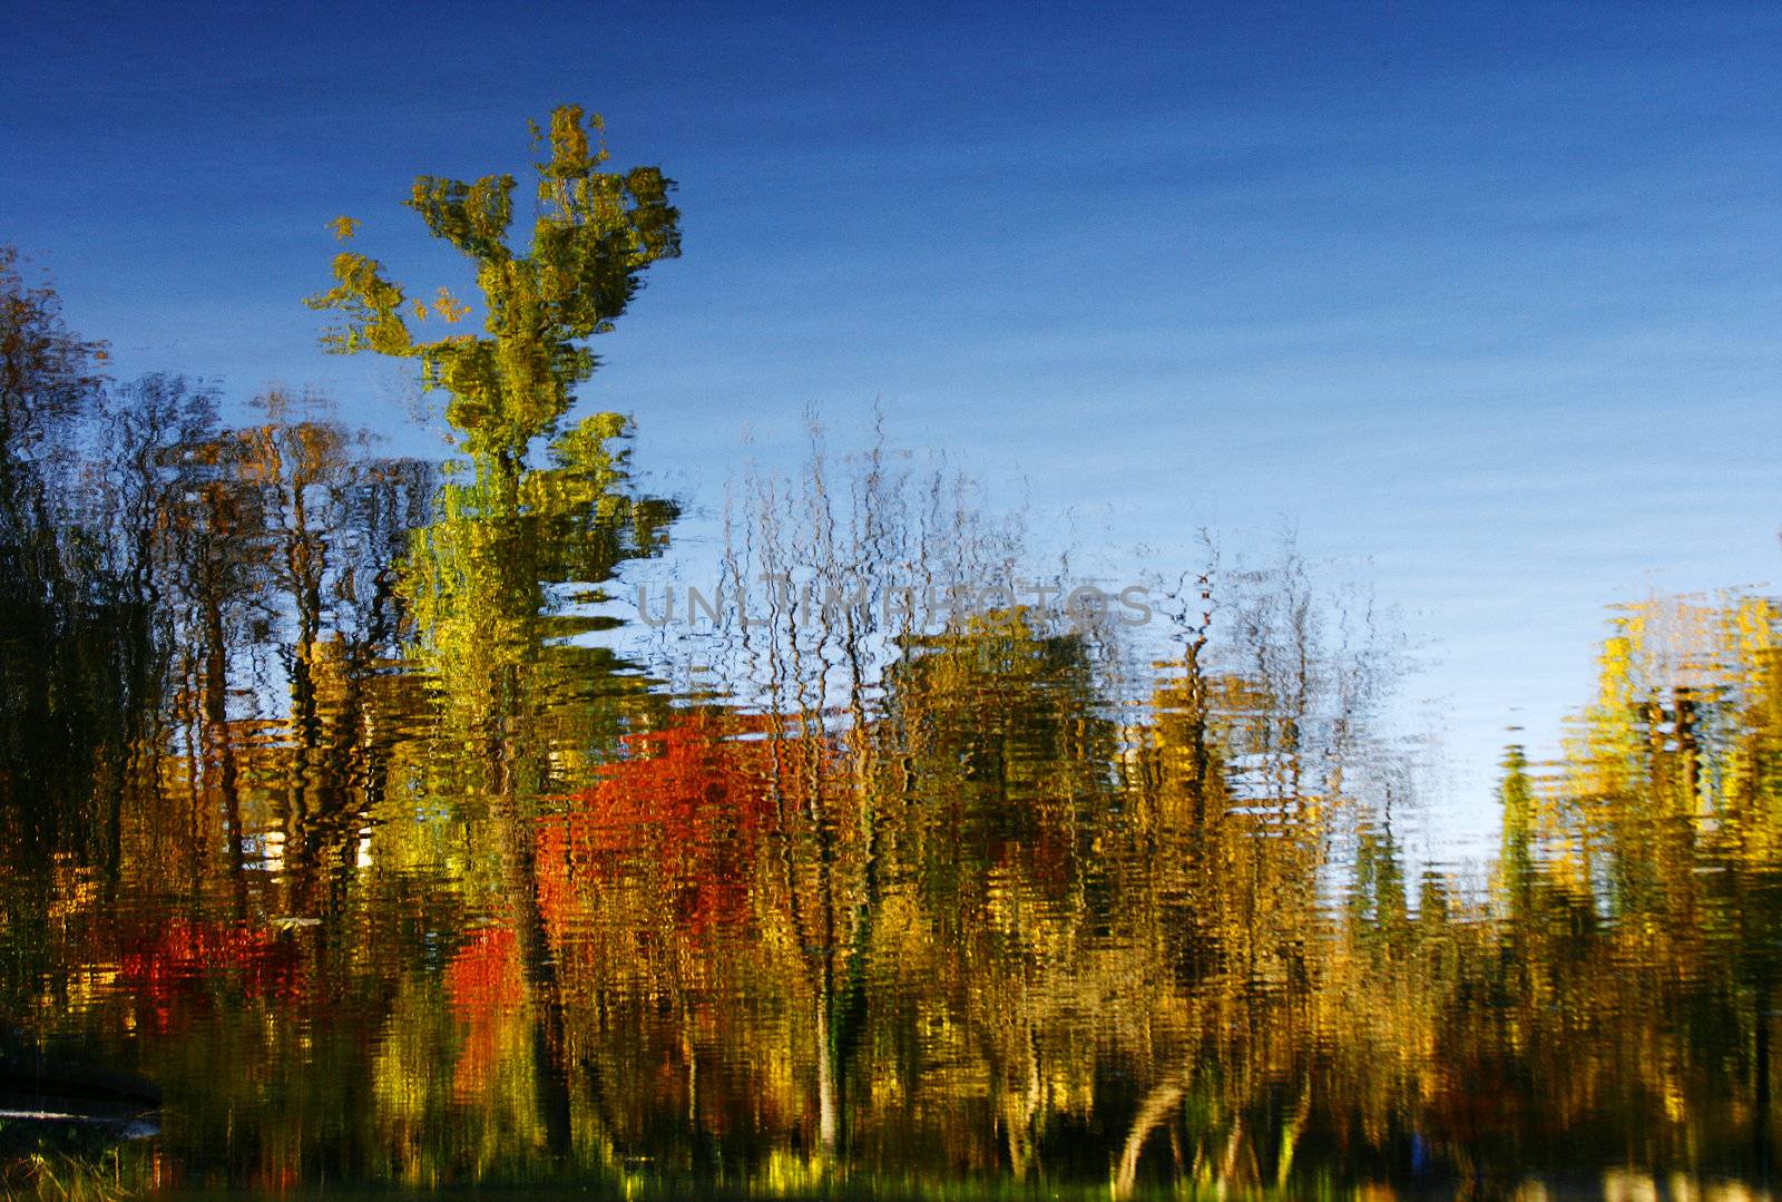
[[[1290,546],[1087,581],[891,446],[652,496],[568,408],[677,216],[556,134],[522,260],[417,191],[485,333],[317,298],[447,462],[98,380],[0,264],[9,1190],[1764,1190],[1773,599],[1616,612],[1413,854],[1401,642]]]

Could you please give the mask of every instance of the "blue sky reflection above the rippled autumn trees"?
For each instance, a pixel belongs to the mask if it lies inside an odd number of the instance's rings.
[[[324,223],[462,282],[408,182],[581,102],[681,184],[588,391],[642,465],[711,498],[745,426],[882,399],[1160,560],[1292,524],[1404,612],[1467,815],[1604,606],[1782,574],[1782,7],[14,4],[0,46],[0,239],[121,371],[399,432],[298,303]]]

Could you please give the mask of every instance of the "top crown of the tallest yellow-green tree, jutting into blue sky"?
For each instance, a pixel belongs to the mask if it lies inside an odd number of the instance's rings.
[[[609,153],[599,116],[579,105],[551,114],[551,155],[538,162],[536,219],[522,253],[510,237],[511,175],[474,184],[424,175],[406,202],[433,237],[476,264],[486,337],[444,332],[470,307],[449,289],[431,301],[392,282],[381,262],[355,251],[335,257],[335,285],[312,309],[340,314],[324,344],[337,353],[376,351],[421,360],[426,387],[446,389],[447,421],[472,455],[517,460],[551,433],[574,403],[574,389],[599,366],[586,339],[611,330],[642,285],[643,269],[681,253],[681,214],[668,203],[674,182],[659,168],[602,171]],[[535,143],[544,132],[533,125]],[[351,239],[356,223],[335,230]]]

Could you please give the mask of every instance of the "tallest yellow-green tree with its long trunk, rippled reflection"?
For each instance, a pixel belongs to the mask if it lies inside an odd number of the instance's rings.
[[[442,389],[469,462],[449,465],[435,519],[415,533],[401,594],[413,655],[437,679],[440,708],[429,792],[478,799],[497,852],[499,892],[535,1020],[538,1116],[552,1156],[570,1145],[570,1061],[563,986],[538,910],[533,826],[561,790],[565,763],[617,749],[647,704],[611,655],[574,642],[597,626],[565,612],[599,599],[618,564],[661,549],[675,510],[627,487],[618,414],[560,423],[595,371],[586,339],[611,330],[658,259],[679,253],[670,180],[656,168],[602,171],[601,119],[561,107],[538,162],[531,244],[510,244],[515,180],[421,177],[408,207],[433,237],[476,264],[483,335],[419,339],[413,325],[460,323],[470,310],[442,289],[413,301],[372,259],[342,251],[317,309],[342,314],[326,337],[342,353],[419,362]],[[544,134],[535,127],[535,139]],[[340,223],[342,237],[353,225]],[[547,462],[531,448],[549,439]]]

